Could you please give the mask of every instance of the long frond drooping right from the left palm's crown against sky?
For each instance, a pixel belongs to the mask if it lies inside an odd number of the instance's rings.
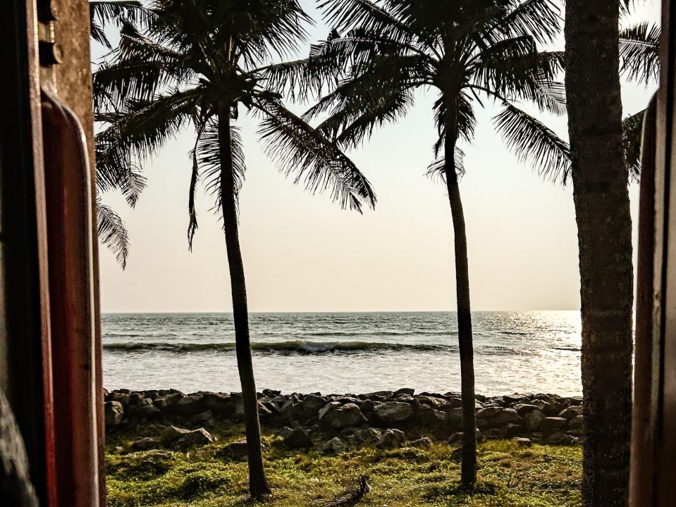
[[[373,207],[376,196],[369,181],[338,146],[280,103],[259,100],[263,115],[259,135],[266,153],[294,182],[305,183],[311,193],[328,191],[341,207],[362,211]]]

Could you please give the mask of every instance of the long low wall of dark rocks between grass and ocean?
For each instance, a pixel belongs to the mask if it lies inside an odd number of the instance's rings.
[[[217,423],[237,423],[244,415],[239,393],[118,389],[106,392],[105,399],[109,430],[131,430],[153,422],[196,431]],[[323,396],[264,389],[258,403],[262,424],[278,430],[288,449],[307,449],[317,442],[326,452],[340,452],[346,446],[368,442],[393,448],[429,446],[433,439],[462,440],[460,394],[453,392],[415,394],[414,389],[399,389]],[[579,396],[478,395],[476,411],[480,439],[516,439],[526,446],[534,442],[576,444],[585,434]],[[197,440],[208,441],[202,431],[199,435],[194,435]],[[185,446],[185,436],[180,438],[177,441]]]

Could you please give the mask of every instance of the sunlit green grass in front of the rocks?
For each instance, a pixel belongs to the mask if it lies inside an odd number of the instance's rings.
[[[133,434],[109,435],[106,480],[109,507],[235,507],[251,506],[247,496],[247,464],[228,452],[227,444],[242,438],[240,428],[217,426],[213,444],[165,457],[129,453],[140,436],[156,437],[161,428],[148,426]],[[479,481],[472,492],[459,486],[457,449],[437,443],[430,449],[393,451],[364,446],[338,456],[319,451],[286,451],[272,434],[264,435],[270,507],[317,507],[357,477],[373,487],[364,507],[563,507],[580,506],[582,451],[578,447],[539,446],[524,449],[510,441],[479,445]]]

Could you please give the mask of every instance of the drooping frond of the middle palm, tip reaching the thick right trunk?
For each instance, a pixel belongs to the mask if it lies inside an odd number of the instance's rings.
[[[549,180],[565,183],[570,170],[570,149],[553,130],[511,104],[493,118],[508,148],[521,160],[534,164]]]

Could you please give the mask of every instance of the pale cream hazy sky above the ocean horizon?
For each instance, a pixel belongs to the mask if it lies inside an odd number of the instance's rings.
[[[324,39],[328,28],[314,1],[300,3],[318,20],[311,38]],[[628,22],[659,20],[657,1],[636,11]],[[552,49],[563,49],[563,39]],[[94,61],[101,54],[92,49]],[[625,115],[641,111],[655,88],[623,82]],[[378,199],[375,210],[363,215],[287,180],[262,151],[257,120],[240,115],[247,163],[240,243],[250,311],[455,310],[448,194],[441,180],[425,175],[434,158],[434,97],[434,91],[419,93],[404,120],[377,130],[349,153]],[[474,142],[461,144],[472,309],[577,310],[572,185],[543,181],[518,161],[493,131],[491,118],[499,108],[484,105],[477,108]],[[567,139],[565,117],[537,117]],[[131,242],[125,270],[100,247],[102,311],[231,311],[223,232],[211,211],[213,199],[202,190],[199,230],[188,251],[188,151],[194,139],[194,131],[185,130],[145,165],[148,186],[134,209],[119,195],[102,196],[125,220]],[[637,184],[629,194],[636,223]]]

